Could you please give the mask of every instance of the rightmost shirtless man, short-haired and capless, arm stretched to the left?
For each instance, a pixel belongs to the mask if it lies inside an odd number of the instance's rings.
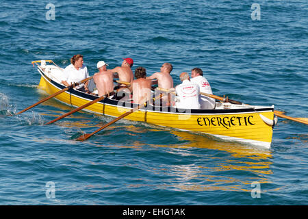
[[[172,71],[172,64],[166,62],[162,64],[162,67],[160,67],[160,72],[154,73],[153,75],[146,77],[146,79],[157,79],[158,87],[164,88],[166,90],[169,90],[170,88],[173,88],[173,79],[170,75],[170,72]],[[159,94],[160,91],[155,90],[155,96]],[[162,96],[162,101],[159,103],[162,106],[169,105],[168,96],[170,99],[170,95]],[[155,101],[156,102],[156,101]],[[157,105],[157,103],[155,103]]]

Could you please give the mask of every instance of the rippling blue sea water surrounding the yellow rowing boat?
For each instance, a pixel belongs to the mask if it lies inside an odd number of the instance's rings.
[[[54,99],[9,116],[47,96],[31,61],[81,53],[90,75],[123,57],[172,63],[175,84],[202,68],[218,96],[307,118],[307,27],[306,0],[1,1],[0,204],[307,205],[301,123],[279,118],[266,150],[127,120],[77,142],[112,118],[43,126],[72,110]]]

